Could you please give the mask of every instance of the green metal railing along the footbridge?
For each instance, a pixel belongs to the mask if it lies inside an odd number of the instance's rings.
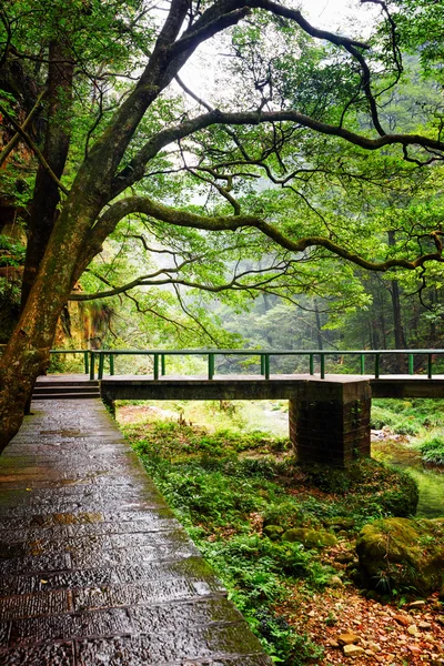
[[[2,351],[0,345],[0,353]],[[361,375],[371,374],[375,379],[381,375],[383,356],[403,355],[407,357],[407,372],[414,374],[415,356],[422,355],[426,359],[426,376],[433,379],[434,356],[444,355],[444,350],[51,350],[51,354],[82,354],[85,374],[90,380],[95,379],[95,366],[98,379],[103,379],[104,364],[109,360],[109,373],[114,375],[115,356],[150,356],[153,363],[153,379],[159,380],[167,373],[167,356],[206,356],[208,379],[213,380],[215,374],[216,356],[255,356],[260,361],[260,372],[265,380],[270,380],[270,361],[275,356],[309,356],[309,373],[315,374],[315,363],[319,363],[320,377],[325,379],[325,363],[327,357],[359,356]],[[373,359],[372,359],[373,357]],[[369,369],[369,359],[372,361],[372,372]],[[281,373],[282,374],[282,373]],[[343,373],[344,374],[344,373]],[[353,374],[353,373],[346,373]]]

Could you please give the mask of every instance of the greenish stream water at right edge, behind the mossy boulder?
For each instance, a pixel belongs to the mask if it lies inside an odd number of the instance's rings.
[[[416,481],[420,490],[417,517],[444,516],[444,468],[425,467],[418,451],[391,440],[372,442],[372,456],[393,467],[408,472]]]

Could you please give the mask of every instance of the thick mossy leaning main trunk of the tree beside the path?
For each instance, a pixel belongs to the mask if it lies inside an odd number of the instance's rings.
[[[188,7],[186,0],[172,1],[144,72],[80,167],[56,221],[20,320],[0,359],[0,452],[18,432],[36,377],[48,366],[57,321],[82,252],[93,244],[93,224],[112,198],[111,184],[127,147],[151,103],[183,63],[170,47]]]

